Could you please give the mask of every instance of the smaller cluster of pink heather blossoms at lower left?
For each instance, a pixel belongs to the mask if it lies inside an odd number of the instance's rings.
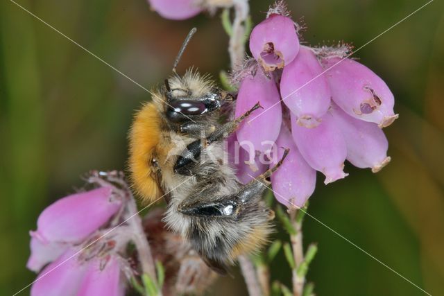
[[[131,232],[121,226],[110,236],[104,234],[117,223],[125,204],[119,189],[105,185],[61,198],[44,209],[37,230],[30,232],[27,267],[40,272],[31,295],[124,295],[122,270],[130,267],[121,254]]]

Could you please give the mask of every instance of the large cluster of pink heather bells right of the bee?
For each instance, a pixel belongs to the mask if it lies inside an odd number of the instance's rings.
[[[349,59],[348,46],[302,46],[297,29],[282,2],[271,8],[250,35],[254,60],[233,76],[240,84],[235,116],[258,101],[263,107],[237,131],[234,144],[246,150],[235,162],[239,180],[250,181],[289,148],[271,177],[276,198],[288,207],[305,204],[316,171],[325,184],[347,176],[345,159],[379,171],[390,161],[382,128],[398,118],[386,83]]]

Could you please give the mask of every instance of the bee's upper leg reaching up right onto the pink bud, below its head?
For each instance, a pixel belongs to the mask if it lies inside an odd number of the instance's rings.
[[[232,132],[234,132],[234,130],[236,130],[237,126],[239,126],[239,124],[251,114],[251,112],[258,108],[261,108],[261,105],[256,103],[256,105],[242,116],[234,119],[234,121],[225,123],[205,139],[197,139],[196,141],[189,143],[187,148],[185,148],[181,155],[179,155],[176,164],[174,165],[174,172],[180,175],[193,175],[193,168],[200,160],[202,149],[215,141],[221,141],[227,138]]]

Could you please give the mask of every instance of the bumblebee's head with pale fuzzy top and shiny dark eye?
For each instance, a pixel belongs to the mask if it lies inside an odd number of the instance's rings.
[[[167,103],[165,115],[176,123],[216,115],[224,103],[233,99],[231,94],[215,87],[207,76],[191,70],[183,77],[173,76],[165,80],[164,97]]]

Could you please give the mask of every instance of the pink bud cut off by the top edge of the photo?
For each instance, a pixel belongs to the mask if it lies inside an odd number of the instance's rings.
[[[148,0],[148,3],[165,19],[189,19],[202,11],[195,0]]]

